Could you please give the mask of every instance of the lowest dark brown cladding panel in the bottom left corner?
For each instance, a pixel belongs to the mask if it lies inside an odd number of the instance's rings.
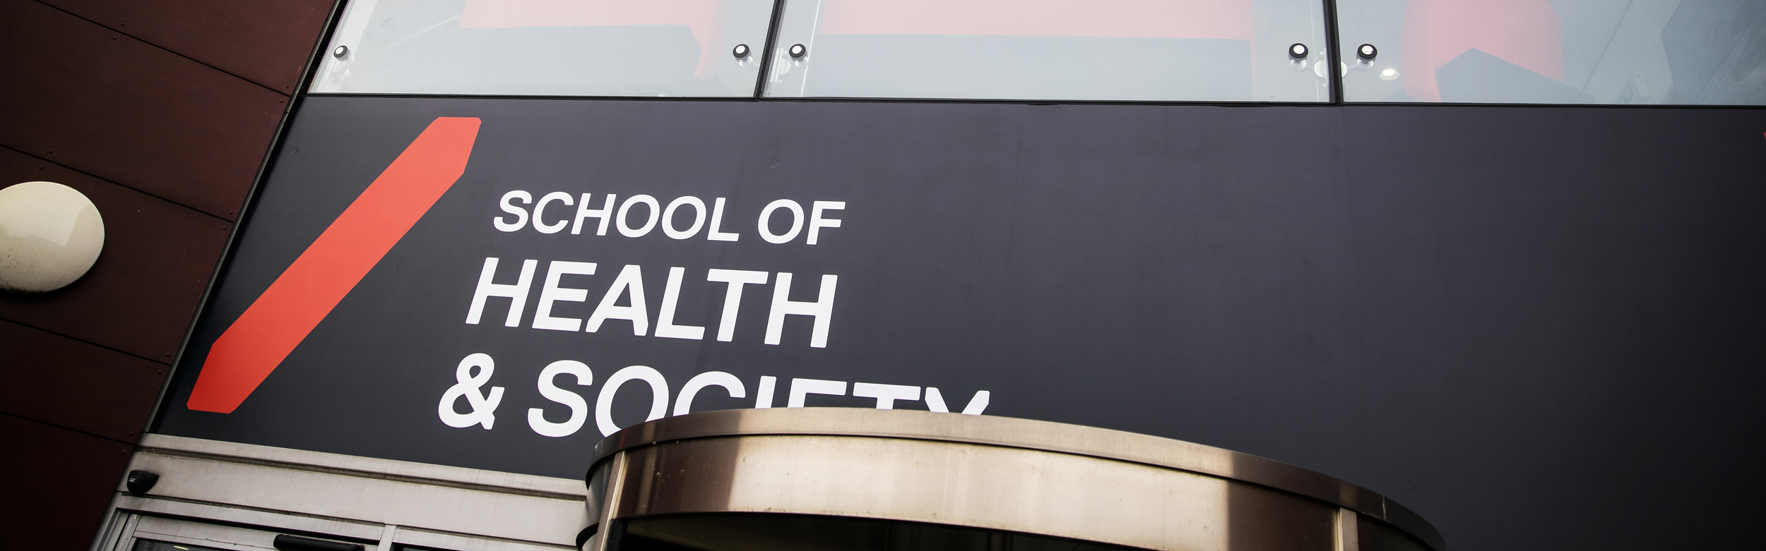
[[[132,447],[12,415],[0,415],[0,473],[11,475],[0,547],[87,549]]]

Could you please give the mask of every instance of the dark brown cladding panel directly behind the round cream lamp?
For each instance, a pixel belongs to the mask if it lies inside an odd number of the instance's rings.
[[[0,185],[32,180],[87,194],[104,217],[104,253],[58,291],[0,293],[0,318],[170,362],[233,223],[0,148]]]

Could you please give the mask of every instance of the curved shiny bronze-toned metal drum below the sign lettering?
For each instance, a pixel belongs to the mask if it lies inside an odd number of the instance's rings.
[[[597,447],[588,507],[599,519],[590,530],[774,512],[1171,551],[1443,547],[1432,526],[1379,494],[1254,456],[1053,422],[858,408],[729,410],[629,427]],[[1393,512],[1404,526],[1390,525]],[[604,546],[593,537],[585,549]]]

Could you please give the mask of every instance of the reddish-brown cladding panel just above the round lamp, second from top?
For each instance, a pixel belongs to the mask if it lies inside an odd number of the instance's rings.
[[[44,4],[0,21],[0,145],[237,217],[288,97]]]

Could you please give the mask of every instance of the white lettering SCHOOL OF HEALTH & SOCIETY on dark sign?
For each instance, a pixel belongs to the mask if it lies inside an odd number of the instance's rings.
[[[710,207],[708,207],[710,205]],[[809,205],[809,208],[804,208]],[[832,235],[830,230],[844,226],[834,217],[846,210],[846,201],[798,201],[772,200],[759,210],[731,208],[726,198],[710,201],[698,196],[676,196],[662,201],[650,194],[565,192],[551,191],[535,200],[535,192],[516,189],[503,192],[491,217],[491,226],[503,233],[533,230],[539,235],[556,235],[547,238],[569,238],[585,235],[585,226],[593,221],[593,235],[608,237],[608,230],[623,238],[650,238],[660,228],[668,240],[740,242],[738,231],[726,228],[754,228],[761,240],[772,245],[821,245]],[[747,215],[742,215],[747,214]],[[781,231],[774,231],[781,230]],[[586,238],[586,237],[585,237]],[[505,327],[521,327],[528,304],[533,304],[533,316],[526,320],[528,328],[555,332],[602,332],[608,321],[615,323],[608,336],[623,336],[625,323],[630,323],[634,337],[662,337],[683,341],[705,341],[706,328],[717,327],[715,343],[731,343],[738,337],[756,337],[763,344],[781,346],[793,341],[793,346],[828,348],[834,332],[835,297],[841,277],[835,274],[795,274],[738,268],[689,268],[689,267],[648,267],[648,279],[653,286],[662,281],[662,297],[652,304],[652,293],[645,291],[646,267],[636,263],[620,265],[618,274],[608,274],[602,265],[586,258],[546,260],[546,274],[540,279],[539,293],[533,293],[533,279],[540,276],[539,258],[521,260],[519,268],[509,267],[498,256],[484,258],[479,267],[479,279],[466,307],[466,325],[479,325],[486,313],[494,316],[502,307]],[[662,276],[666,274],[666,276]],[[611,276],[611,277],[609,277]],[[802,277],[798,277],[802,276]],[[749,321],[742,327],[747,334],[738,334],[742,321],[742,298],[749,286],[770,286],[772,300],[765,302],[766,323]],[[652,288],[653,290],[653,288]],[[600,300],[590,306],[588,297],[600,293]],[[719,291],[722,300],[717,300]],[[758,298],[765,300],[765,298]],[[682,304],[689,307],[682,307]],[[721,302],[721,311],[712,314],[708,307]],[[759,306],[759,304],[756,304]],[[756,307],[751,306],[751,307]],[[705,316],[698,320],[696,316]],[[751,316],[752,318],[752,316]],[[807,318],[807,320],[805,320]],[[807,343],[798,341],[800,334],[788,337],[788,325],[802,330],[809,328]],[[708,346],[708,344],[698,344]],[[503,387],[491,385],[494,362],[487,353],[466,355],[456,366],[454,385],[450,385],[436,404],[442,424],[450,427],[491,429],[496,422],[496,408],[503,401]],[[632,385],[643,383],[643,385]],[[752,408],[774,408],[777,404],[779,378],[763,374],[752,380]],[[526,408],[528,429],[546,438],[565,438],[581,433],[588,419],[595,420],[595,433],[602,436],[618,431],[613,419],[615,401],[634,404],[646,401],[639,408],[645,420],[664,415],[687,415],[694,401],[729,404],[728,399],[749,399],[749,385],[743,378],[728,371],[705,371],[689,378],[671,399],[671,387],[662,371],[648,366],[625,366],[606,378],[597,389],[593,371],[588,364],[563,359],[546,364],[533,380],[533,389],[544,399],[539,406]],[[648,387],[648,392],[629,389]],[[717,387],[719,390],[710,390]],[[625,390],[625,392],[622,392]],[[788,378],[784,406],[804,408],[809,404],[860,403],[878,410],[911,408],[915,403],[927,411],[948,413],[950,404],[936,387],[894,385],[872,381],[842,381],[825,378]],[[588,392],[595,392],[593,408]],[[982,415],[991,403],[989,390],[977,390],[962,406],[966,415]],[[671,406],[673,404],[673,406]],[[461,408],[468,411],[461,411]],[[560,410],[560,406],[563,410]],[[551,411],[551,413],[547,413]]]

